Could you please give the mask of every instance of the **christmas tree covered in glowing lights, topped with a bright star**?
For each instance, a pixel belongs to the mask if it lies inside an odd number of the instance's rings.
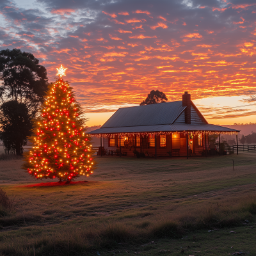
[[[23,168],[36,179],[59,179],[70,182],[81,175],[93,173],[90,136],[83,131],[85,118],[74,92],[62,76],[49,85],[45,101],[40,108],[40,118],[35,120],[29,138],[33,150],[25,153]]]

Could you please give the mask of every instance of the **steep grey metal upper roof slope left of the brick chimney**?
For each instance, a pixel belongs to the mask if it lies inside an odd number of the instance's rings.
[[[100,129],[172,124],[185,108],[182,101],[120,108]]]

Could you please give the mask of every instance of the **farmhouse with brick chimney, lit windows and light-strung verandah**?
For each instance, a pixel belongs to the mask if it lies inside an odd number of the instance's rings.
[[[100,129],[88,133],[100,138],[100,154],[188,157],[216,154],[210,134],[218,134],[220,141],[220,134],[237,132],[208,124],[185,92],[180,101],[120,108]]]

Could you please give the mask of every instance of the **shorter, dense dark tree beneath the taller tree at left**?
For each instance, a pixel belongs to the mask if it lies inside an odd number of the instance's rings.
[[[0,140],[4,143],[4,148],[8,151],[22,154],[22,146],[27,143],[27,136],[31,135],[31,120],[28,108],[24,103],[15,100],[5,102],[0,107]]]

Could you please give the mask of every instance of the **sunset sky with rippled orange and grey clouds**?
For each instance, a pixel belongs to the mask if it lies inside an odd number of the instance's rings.
[[[185,91],[211,124],[256,123],[255,0],[0,0],[0,50],[67,69],[102,125],[151,90]]]

